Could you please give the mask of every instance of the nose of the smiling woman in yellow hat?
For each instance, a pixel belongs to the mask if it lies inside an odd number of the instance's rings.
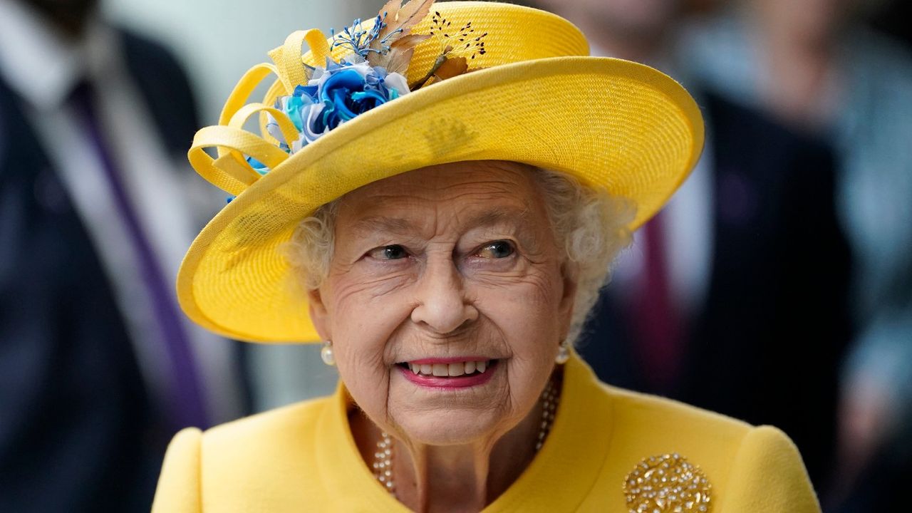
[[[461,273],[449,259],[428,263],[417,293],[411,319],[437,333],[451,333],[478,319],[478,310],[465,296]]]

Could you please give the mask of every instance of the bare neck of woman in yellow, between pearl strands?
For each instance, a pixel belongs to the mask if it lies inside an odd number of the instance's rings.
[[[393,443],[392,477],[399,501],[413,511],[481,511],[534,459],[542,431],[539,401],[513,429],[466,445]],[[373,461],[382,439],[364,414],[350,419],[362,457]]]

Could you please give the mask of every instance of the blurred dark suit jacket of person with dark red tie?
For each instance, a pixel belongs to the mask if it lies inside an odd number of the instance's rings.
[[[834,214],[833,157],[751,110],[703,98],[715,248],[705,304],[688,319],[682,374],[671,390],[649,390],[623,291],[611,285],[581,351],[606,382],[782,428],[819,488],[833,454],[836,372],[849,336],[849,255]]]

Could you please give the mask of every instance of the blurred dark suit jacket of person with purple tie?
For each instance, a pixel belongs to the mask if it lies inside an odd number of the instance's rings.
[[[162,141],[198,123],[163,47],[123,34]],[[0,511],[149,511],[171,432],[57,170],[0,80]]]

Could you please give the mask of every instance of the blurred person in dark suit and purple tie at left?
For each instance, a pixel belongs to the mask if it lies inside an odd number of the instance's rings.
[[[148,511],[177,428],[244,413],[232,347],[173,300],[190,86],[97,4],[0,0],[5,512]]]

